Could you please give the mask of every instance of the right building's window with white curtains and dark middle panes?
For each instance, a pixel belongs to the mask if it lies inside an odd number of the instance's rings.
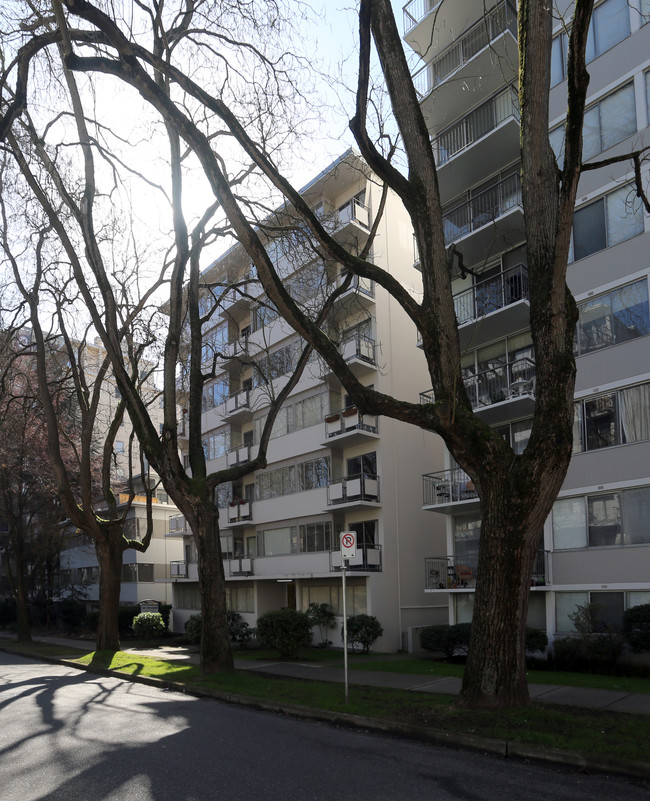
[[[650,383],[607,392],[575,405],[573,451],[650,439]]]

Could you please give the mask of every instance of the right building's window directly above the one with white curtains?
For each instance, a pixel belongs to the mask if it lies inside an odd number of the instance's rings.
[[[578,305],[575,353],[581,356],[650,333],[647,279]]]

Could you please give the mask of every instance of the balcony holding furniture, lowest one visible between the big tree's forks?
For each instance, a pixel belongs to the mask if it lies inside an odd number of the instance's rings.
[[[526,417],[535,408],[535,362],[527,357],[492,366],[463,379],[472,409],[489,425]],[[420,393],[420,403],[434,403],[433,390]]]

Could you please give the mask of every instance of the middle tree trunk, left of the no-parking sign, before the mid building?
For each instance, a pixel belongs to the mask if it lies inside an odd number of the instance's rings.
[[[203,509],[205,518],[199,521],[194,533],[203,619],[201,671],[223,673],[233,670],[234,665],[226,617],[226,579],[219,539],[219,510],[212,504],[205,504]]]

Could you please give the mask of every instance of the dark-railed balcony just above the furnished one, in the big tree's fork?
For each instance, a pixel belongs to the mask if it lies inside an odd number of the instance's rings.
[[[457,292],[454,308],[461,350],[503,339],[512,331],[526,328],[530,318],[528,297],[528,269],[523,264]]]

